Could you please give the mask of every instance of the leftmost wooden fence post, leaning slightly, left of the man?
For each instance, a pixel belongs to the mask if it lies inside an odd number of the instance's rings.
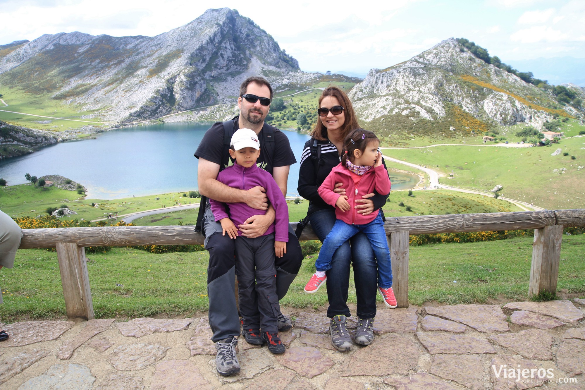
[[[91,300],[85,248],[78,247],[73,242],[57,242],[55,247],[67,317],[94,319],[94,304]]]

